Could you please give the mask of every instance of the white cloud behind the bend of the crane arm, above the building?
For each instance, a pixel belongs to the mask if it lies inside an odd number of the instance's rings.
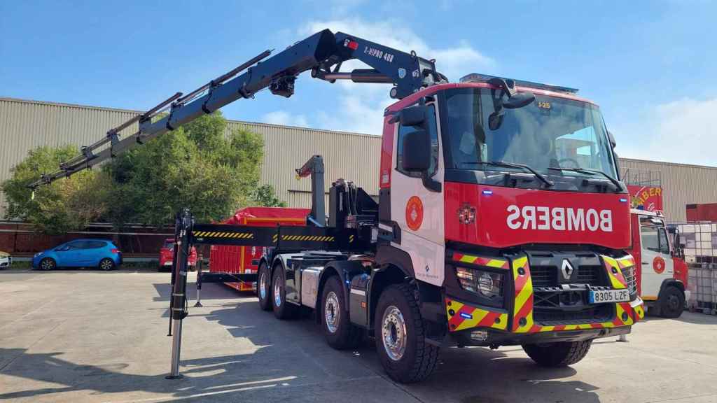
[[[312,21],[299,29],[300,36],[307,36],[322,29],[345,32],[371,42],[419,56],[436,59],[436,67],[452,81],[457,81],[469,72],[485,71],[495,67],[495,61],[478,52],[468,42],[457,42],[452,47],[431,47],[419,34],[395,20],[366,22],[358,18]],[[341,71],[350,71],[367,66],[356,60],[343,64]],[[383,130],[383,112],[394,103],[389,98],[388,85],[356,84],[339,81],[338,103],[330,112],[318,111],[318,127],[338,131],[352,131],[380,135]]]

